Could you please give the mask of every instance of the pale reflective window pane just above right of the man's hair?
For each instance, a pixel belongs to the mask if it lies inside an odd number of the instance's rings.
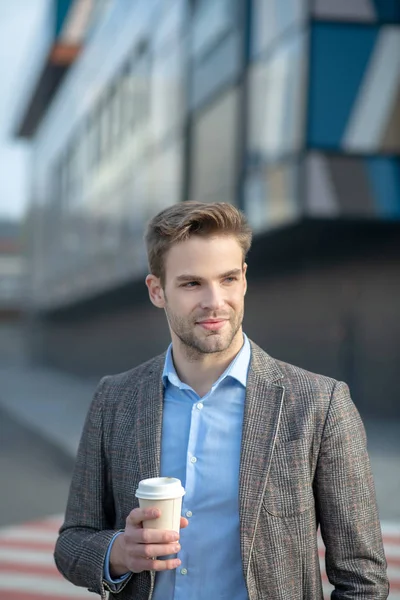
[[[299,167],[271,165],[249,173],[244,210],[255,233],[287,224],[299,216]]]

